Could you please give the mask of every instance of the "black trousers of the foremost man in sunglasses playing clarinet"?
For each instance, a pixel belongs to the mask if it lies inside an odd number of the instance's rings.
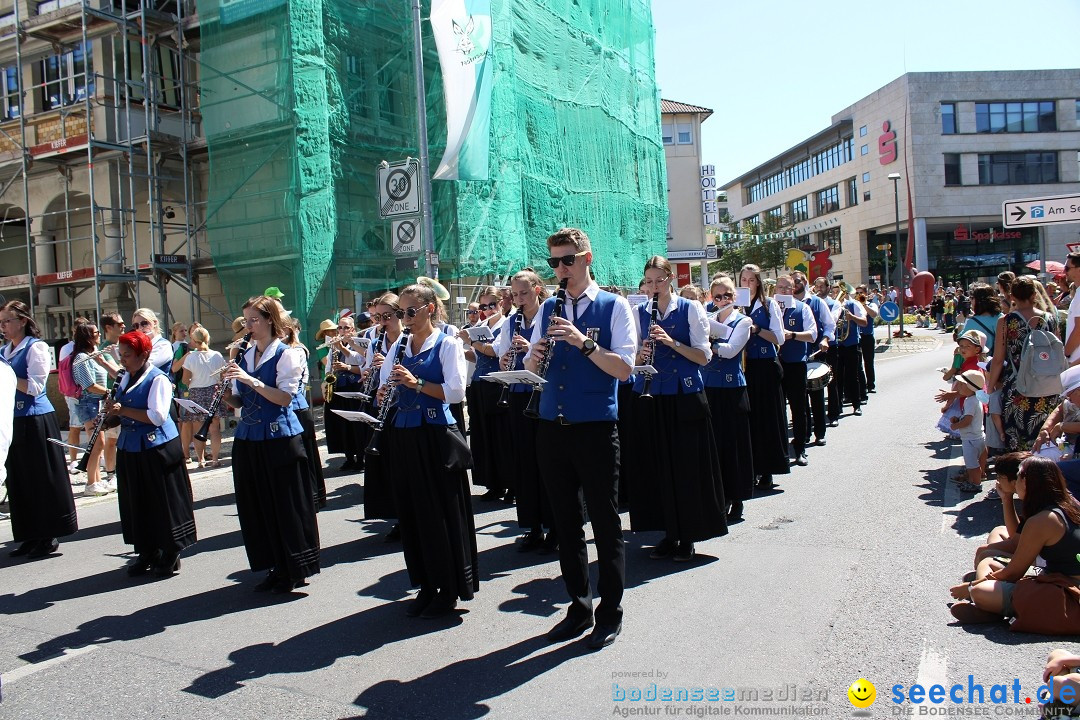
[[[599,574],[596,622],[616,625],[622,621],[622,592],[626,583],[618,498],[619,431],[613,422],[559,425],[541,420],[537,426],[537,464],[555,516],[558,563],[570,596],[569,614],[573,617],[593,614],[585,545],[588,507]]]

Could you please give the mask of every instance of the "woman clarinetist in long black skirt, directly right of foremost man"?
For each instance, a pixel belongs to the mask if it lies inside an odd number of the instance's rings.
[[[645,264],[645,291],[657,294],[637,307],[639,365],[651,365],[650,380],[638,375],[635,431],[639,465],[625,468],[631,486],[630,521],[635,532],[663,530],[649,557],[686,562],[693,544],[727,534],[724,485],[713,439],[713,423],[701,367],[708,363],[708,318],[694,300],[675,297],[671,263],[653,256]],[[651,345],[651,348],[650,348]],[[648,389],[650,395],[645,395]]]

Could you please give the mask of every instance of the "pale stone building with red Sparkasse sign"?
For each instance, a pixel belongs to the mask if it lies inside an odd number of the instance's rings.
[[[1080,70],[909,72],[837,112],[828,127],[724,186],[735,220],[779,215],[834,276],[880,276],[914,218],[915,266],[947,283],[1061,260],[1077,225],[1005,229],[1007,200],[1080,191]]]

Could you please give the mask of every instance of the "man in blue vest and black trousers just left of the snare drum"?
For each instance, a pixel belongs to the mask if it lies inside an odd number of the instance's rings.
[[[818,323],[810,305],[794,297],[795,283],[791,275],[777,277],[777,295],[792,296],[792,307],[784,308],[784,344],[780,348],[780,365],[784,372],[781,386],[792,408],[792,446],[795,464],[807,464],[807,362],[810,343],[818,339]]]

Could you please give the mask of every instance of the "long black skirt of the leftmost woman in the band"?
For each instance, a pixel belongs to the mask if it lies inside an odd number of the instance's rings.
[[[15,418],[8,452],[8,502],[15,542],[63,538],[79,529],[56,413]]]

